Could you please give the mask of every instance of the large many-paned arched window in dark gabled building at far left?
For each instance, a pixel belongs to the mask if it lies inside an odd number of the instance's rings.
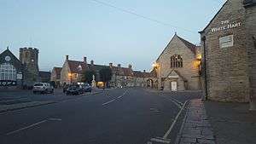
[[[16,81],[17,72],[15,66],[9,63],[3,63],[0,65],[0,80],[11,80]]]

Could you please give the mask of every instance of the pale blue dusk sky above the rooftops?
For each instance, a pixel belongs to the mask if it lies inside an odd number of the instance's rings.
[[[19,58],[19,48],[38,48],[39,69],[44,71],[62,66],[65,55],[71,60],[83,60],[86,56],[88,62],[94,60],[96,64],[113,62],[125,67],[131,64],[134,70],[150,70],[175,32],[199,44],[198,32],[224,3],[99,1],[116,8],[93,0],[0,0],[0,53],[9,46]]]

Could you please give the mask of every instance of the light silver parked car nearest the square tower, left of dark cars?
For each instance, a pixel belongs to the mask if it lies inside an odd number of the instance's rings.
[[[54,88],[49,83],[36,83],[33,85],[32,89],[33,93],[53,93]]]

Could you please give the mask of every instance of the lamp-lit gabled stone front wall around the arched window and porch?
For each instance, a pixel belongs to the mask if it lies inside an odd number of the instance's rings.
[[[181,55],[183,58],[182,68],[171,68],[171,56],[176,54]],[[198,80],[199,67],[195,65],[195,54],[189,48],[187,48],[177,36],[172,38],[171,43],[167,45],[167,48],[163,51],[162,55],[160,55],[157,63],[160,65],[157,74],[159,80],[159,89],[161,89],[161,87],[166,87],[166,90],[171,90],[170,84],[172,79],[167,77],[173,70],[176,70],[184,78],[183,80],[187,80],[188,86],[186,89],[201,89],[199,84],[200,82]],[[177,82],[180,81],[181,79],[179,78]],[[183,83],[184,82],[177,84],[179,85],[177,90],[185,89]]]

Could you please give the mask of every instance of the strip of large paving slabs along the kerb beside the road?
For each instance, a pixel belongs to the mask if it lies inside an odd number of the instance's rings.
[[[215,144],[212,127],[201,99],[190,101],[183,119],[182,128],[177,135],[177,144]]]

